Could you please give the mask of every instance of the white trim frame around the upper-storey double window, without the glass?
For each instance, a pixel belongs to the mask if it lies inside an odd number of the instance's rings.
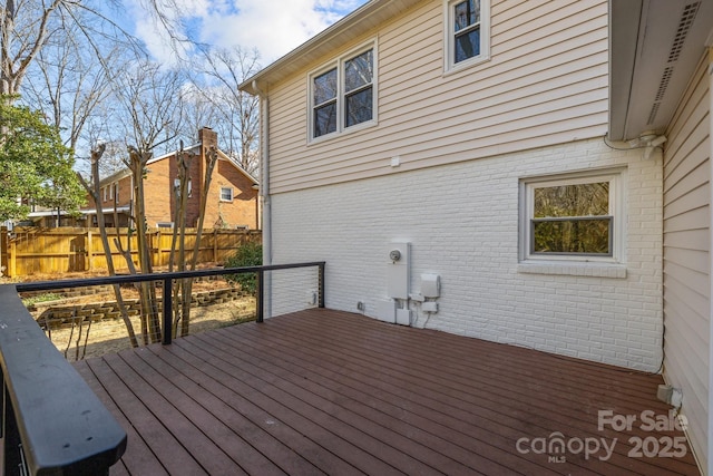
[[[350,59],[358,57],[359,55],[372,50],[372,68],[373,76],[371,78],[371,119],[363,123],[355,124],[353,126],[345,126],[345,98],[348,93],[344,90],[344,65]],[[329,140],[333,137],[341,136],[343,134],[350,134],[356,130],[362,130],[368,127],[373,127],[379,123],[379,109],[378,109],[378,90],[379,90],[379,48],[377,39],[370,39],[364,41],[356,48],[352,48],[349,51],[341,54],[339,57],[331,61],[321,65],[319,68],[307,72],[307,145],[312,143],[319,143],[322,140]],[[336,68],[336,130],[329,134],[323,134],[319,137],[314,137],[314,86],[313,79],[320,75],[328,72],[331,69]],[[352,93],[352,91],[350,91]]]

